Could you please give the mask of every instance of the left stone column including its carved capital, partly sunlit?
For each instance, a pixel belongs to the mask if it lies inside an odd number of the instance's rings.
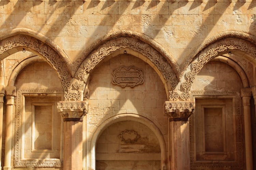
[[[83,117],[88,113],[86,101],[59,101],[57,109],[63,117],[63,169],[82,169]]]

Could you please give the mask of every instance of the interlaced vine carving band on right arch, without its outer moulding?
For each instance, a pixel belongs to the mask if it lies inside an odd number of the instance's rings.
[[[226,38],[217,41],[211,45],[208,49],[203,50],[196,57],[196,60],[192,62],[188,68],[188,71],[185,73],[185,80],[181,83],[184,91],[189,91],[191,85],[202,67],[209,62],[213,57],[217,56],[219,53],[237,49],[242,52],[245,52],[252,57],[256,57],[256,47],[254,44],[239,38]]]

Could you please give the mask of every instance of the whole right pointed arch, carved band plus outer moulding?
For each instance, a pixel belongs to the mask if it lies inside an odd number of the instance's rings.
[[[184,91],[190,90],[196,75],[212,58],[228,51],[246,57],[250,61],[256,58],[256,37],[252,35],[231,31],[217,36],[217,38],[210,38],[210,40],[208,40],[211,42],[210,44],[205,45],[194,57],[187,59],[191,62],[184,68],[185,71],[181,78],[181,87]]]

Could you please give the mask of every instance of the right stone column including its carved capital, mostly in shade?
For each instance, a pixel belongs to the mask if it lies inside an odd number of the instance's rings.
[[[169,169],[189,170],[189,122],[194,103],[189,101],[165,102],[165,114],[169,119]]]

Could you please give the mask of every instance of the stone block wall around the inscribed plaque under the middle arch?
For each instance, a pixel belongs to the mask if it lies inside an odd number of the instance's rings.
[[[121,66],[142,69],[144,83],[124,88],[113,84],[112,70]],[[165,88],[155,70],[138,57],[122,54],[102,63],[91,74],[88,89],[88,123],[92,128],[108,115],[125,110],[127,113],[152,117],[163,126],[162,133],[167,132],[167,118],[162,107],[166,101]]]

